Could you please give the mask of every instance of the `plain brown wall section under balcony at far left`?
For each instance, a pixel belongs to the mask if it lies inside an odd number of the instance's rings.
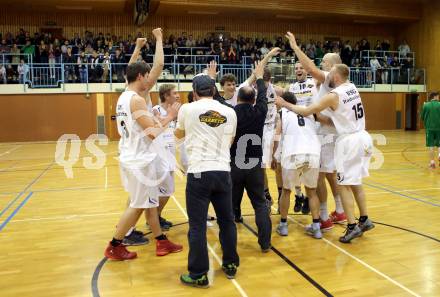
[[[0,142],[57,140],[63,134],[81,139],[96,133],[96,95],[0,96]]]

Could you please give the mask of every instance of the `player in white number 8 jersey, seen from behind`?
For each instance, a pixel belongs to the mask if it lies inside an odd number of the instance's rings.
[[[297,100],[293,93],[285,92],[282,97],[291,104]],[[296,187],[304,184],[306,194],[310,199],[313,223],[306,227],[307,233],[319,239],[322,238],[319,224],[319,199],[316,186],[319,175],[319,155],[321,146],[316,133],[316,123],[312,115],[303,117],[287,108],[281,108],[277,124],[277,134],[281,134],[281,167],[283,190],[280,201],[281,222],[277,233],[287,236],[287,214],[290,207],[290,193]],[[274,147],[278,146],[275,140]]]

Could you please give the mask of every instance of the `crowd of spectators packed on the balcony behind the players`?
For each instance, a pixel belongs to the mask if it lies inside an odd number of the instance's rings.
[[[60,77],[59,72],[63,71],[65,81],[68,82],[106,82],[110,79],[123,82],[124,64],[128,62],[135,48],[137,37],[143,37],[143,34],[138,32],[124,38],[109,33],[94,34],[86,31],[82,36],[76,33],[72,38],[63,38],[50,33],[31,35],[23,29],[15,36],[9,32],[0,33],[0,83],[22,82],[28,75],[29,63],[39,63],[40,66],[49,68],[48,79]],[[386,53],[392,50],[388,40],[377,40],[374,47],[370,46],[367,39],[354,44],[350,40],[304,41],[299,38],[297,42],[316,63],[320,63],[326,53],[339,53],[342,61],[350,67],[371,67],[378,70],[380,73],[376,77],[383,81],[387,80],[382,79],[383,75],[388,73],[383,69],[413,67],[412,53],[406,41],[396,48],[398,52],[394,55]],[[274,46],[281,48],[276,62],[294,60],[289,43],[282,37],[234,38],[222,34],[207,34],[203,38],[194,38],[193,35],[183,32],[179,36],[170,35],[165,39],[165,63],[180,63],[184,67],[183,72],[188,70],[188,73],[194,71],[191,64],[209,62],[213,56],[218,56],[220,64],[251,64],[261,59]],[[149,39],[142,50],[142,58],[151,63],[154,50],[154,40]],[[365,53],[361,55],[362,51],[374,52],[369,52],[367,58]],[[176,58],[172,55],[178,56]],[[56,68],[59,63],[64,64],[64,69]],[[109,77],[110,67],[113,77]]]

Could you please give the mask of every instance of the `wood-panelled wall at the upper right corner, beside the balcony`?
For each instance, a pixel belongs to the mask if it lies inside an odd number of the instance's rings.
[[[416,52],[417,64],[427,71],[427,90],[440,90],[440,1],[429,1],[422,19],[400,31]]]

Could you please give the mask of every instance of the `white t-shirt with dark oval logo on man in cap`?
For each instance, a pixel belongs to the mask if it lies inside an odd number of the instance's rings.
[[[235,137],[235,111],[213,99],[184,104],[177,129],[185,131],[188,173],[230,171],[230,147]]]

